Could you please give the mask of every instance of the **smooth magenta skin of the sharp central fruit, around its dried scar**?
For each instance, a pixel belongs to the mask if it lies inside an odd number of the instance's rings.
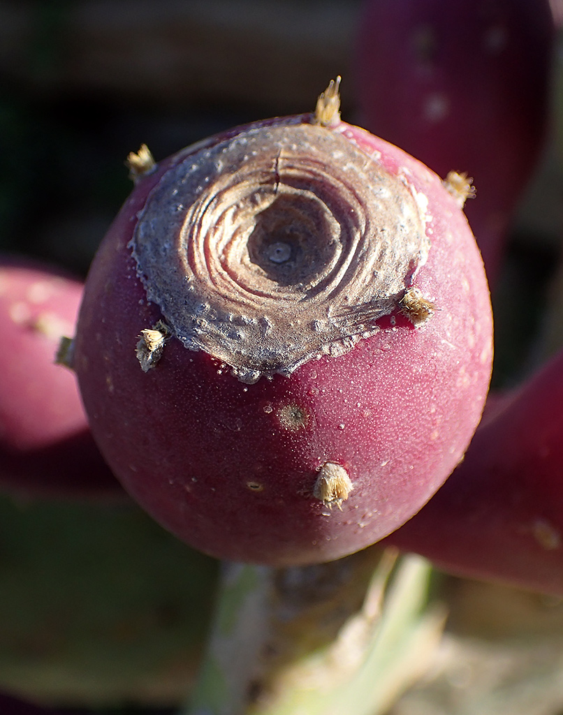
[[[431,250],[415,284],[439,310],[421,327],[396,311],[346,355],[253,385],[175,337],[157,366],[143,372],[135,355],[139,334],[162,315],[147,303],[127,244],[162,174],[199,147],[137,182],[87,279],[74,370],[94,438],[157,521],[219,558],[317,563],[383,538],[451,473],[486,397],[489,293],[455,199],[439,177],[391,144],[343,122],[326,131],[341,132],[371,160],[381,152],[390,172],[428,197]],[[327,462],[343,465],[353,483],[341,511],[313,497]]]

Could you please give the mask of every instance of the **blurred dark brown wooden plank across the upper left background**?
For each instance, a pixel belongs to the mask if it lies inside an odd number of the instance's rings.
[[[346,102],[358,8],[359,0],[4,2],[0,73],[35,91],[306,111],[336,74]]]

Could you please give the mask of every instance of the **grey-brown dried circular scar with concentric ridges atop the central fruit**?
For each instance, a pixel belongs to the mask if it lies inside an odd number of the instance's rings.
[[[424,202],[344,134],[338,83],[313,114],[178,154],[129,242],[170,334],[243,383],[373,335],[429,252]],[[163,343],[142,340],[145,370]]]

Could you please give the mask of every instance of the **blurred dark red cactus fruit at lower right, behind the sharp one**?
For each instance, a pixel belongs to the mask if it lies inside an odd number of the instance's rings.
[[[563,596],[563,353],[485,411],[464,461],[389,537],[459,576]]]

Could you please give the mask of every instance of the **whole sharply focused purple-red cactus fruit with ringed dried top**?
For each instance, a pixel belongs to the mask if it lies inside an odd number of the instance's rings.
[[[132,157],[87,279],[74,369],[94,437],[157,521],[220,558],[328,561],[388,535],[459,463],[489,385],[461,195],[341,122],[335,89],[315,114]]]

